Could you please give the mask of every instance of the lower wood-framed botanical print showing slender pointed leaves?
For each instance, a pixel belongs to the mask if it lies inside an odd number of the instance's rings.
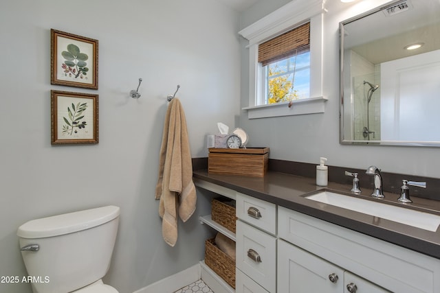
[[[98,98],[91,93],[51,91],[51,143],[98,143]]]

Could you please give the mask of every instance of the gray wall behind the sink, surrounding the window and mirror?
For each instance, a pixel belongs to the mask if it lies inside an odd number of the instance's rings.
[[[241,28],[247,27],[273,10],[267,1],[259,1],[243,13]],[[287,1],[274,1],[279,6]],[[271,1],[272,3],[272,1]],[[325,113],[268,119],[248,119],[242,111],[239,125],[247,130],[250,146],[270,147],[270,158],[305,163],[329,159],[329,165],[366,169],[377,165],[384,172],[440,177],[438,148],[341,145],[339,143],[339,34],[340,21],[386,3],[384,0],[341,3],[329,0],[324,16],[323,94],[329,99]],[[258,17],[254,17],[258,15]],[[248,49],[241,40],[241,107],[248,106]],[[276,129],[276,131],[274,130]],[[408,176],[410,178],[410,176]],[[403,178],[402,178],[403,179]],[[429,183],[428,183],[429,184]]]

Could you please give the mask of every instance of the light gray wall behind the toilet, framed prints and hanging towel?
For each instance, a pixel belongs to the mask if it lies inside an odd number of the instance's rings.
[[[50,29],[99,40],[98,91],[50,84]],[[193,157],[239,115],[239,13],[213,0],[18,0],[0,3],[0,275],[26,274],[17,228],[28,220],[121,207],[104,281],[131,293],[203,259],[198,215],[162,239],[154,200],[166,95],[186,111]],[[143,78],[140,99],[129,97]],[[50,144],[50,90],[99,94],[98,145]],[[199,197],[197,213],[208,200]],[[28,293],[28,284],[0,283]]]

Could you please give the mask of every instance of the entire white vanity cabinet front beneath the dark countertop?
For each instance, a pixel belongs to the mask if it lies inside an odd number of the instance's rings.
[[[197,185],[236,200],[237,293],[440,292],[440,259],[219,185]]]

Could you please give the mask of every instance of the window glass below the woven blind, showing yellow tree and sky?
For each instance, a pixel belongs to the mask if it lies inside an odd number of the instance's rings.
[[[265,66],[265,104],[310,97],[310,51]]]

